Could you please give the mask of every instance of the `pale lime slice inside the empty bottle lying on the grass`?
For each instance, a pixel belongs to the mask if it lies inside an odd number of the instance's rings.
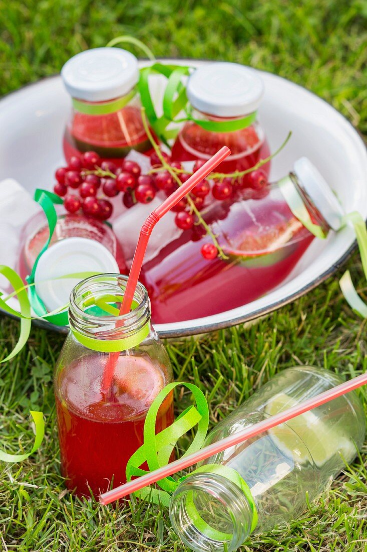
[[[292,397],[279,393],[268,403],[265,412],[274,416],[297,404],[298,401],[295,401]],[[329,427],[328,424],[323,422],[317,415],[316,410],[310,410],[292,418],[287,422],[287,426],[293,429],[303,440],[317,466],[325,464],[337,452],[340,452],[347,460],[355,455],[355,449],[350,440],[335,427]],[[296,437],[292,432],[287,431],[283,425],[274,427],[269,431],[269,434],[271,434],[280,450],[288,452],[288,454],[296,450],[301,463],[307,460],[306,451],[299,450]]]

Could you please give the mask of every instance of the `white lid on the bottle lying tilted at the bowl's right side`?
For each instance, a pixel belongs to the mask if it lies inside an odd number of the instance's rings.
[[[301,157],[294,163],[294,173],[330,228],[339,230],[344,216],[343,208],[315,165],[307,157]]]

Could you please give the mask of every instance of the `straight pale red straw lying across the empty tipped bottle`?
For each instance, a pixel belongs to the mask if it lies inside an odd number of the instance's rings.
[[[238,445],[239,443],[242,443],[245,440],[250,439],[251,437],[256,437],[259,433],[267,431],[268,429],[272,429],[273,427],[278,426],[280,423],[288,422],[289,420],[292,420],[292,418],[295,418],[296,416],[300,416],[304,412],[312,410],[312,408],[317,408],[318,406],[321,406],[326,402],[337,399],[337,397],[345,395],[346,393],[349,393],[350,391],[353,391],[354,389],[357,389],[361,385],[365,384],[367,384],[367,373],[357,376],[357,378],[346,381],[346,383],[337,385],[332,389],[328,389],[320,395],[316,395],[315,397],[312,397],[307,401],[301,402],[299,405],[293,406],[292,408],[287,408],[287,410],[279,412],[278,414],[271,416],[267,420],[255,423],[253,426],[247,427],[246,429],[243,429],[242,431],[239,431],[232,436],[220,439],[217,443],[208,445],[207,447],[198,450],[198,452],[196,453],[190,454],[184,458],[180,458],[179,460],[175,460],[170,464],[159,468],[158,470],[151,471],[149,474],[137,477],[136,479],[126,483],[125,485],[120,485],[119,487],[116,487],[116,489],[107,491],[100,495],[99,501],[104,505],[107,505],[110,502],[114,502],[115,500],[118,500],[118,498],[123,498],[124,496],[127,496],[132,492],[143,489],[143,487],[152,485],[160,479],[164,479],[164,477],[176,474],[177,471],[184,470],[185,468],[188,468],[199,461],[206,460],[214,454],[218,454],[225,449],[234,447],[234,445]]]

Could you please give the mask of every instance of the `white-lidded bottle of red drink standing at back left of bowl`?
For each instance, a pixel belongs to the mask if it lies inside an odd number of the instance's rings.
[[[151,151],[141,118],[135,56],[110,47],[85,50],[65,63],[61,76],[73,104],[63,140],[67,162],[93,150],[102,160],[121,165],[131,150]]]

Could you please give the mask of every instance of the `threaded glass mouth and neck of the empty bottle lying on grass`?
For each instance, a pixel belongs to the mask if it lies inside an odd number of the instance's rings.
[[[214,473],[193,473],[170,502],[172,525],[196,552],[236,550],[251,533],[253,512],[233,481]]]

